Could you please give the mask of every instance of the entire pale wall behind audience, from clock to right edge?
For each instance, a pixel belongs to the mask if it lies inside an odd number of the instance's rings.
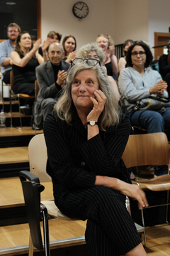
[[[96,40],[100,33],[113,37],[115,44],[130,38],[154,46],[154,32],[169,32],[170,0],[84,0],[89,15],[81,21],[72,14],[77,0],[41,0],[42,40],[51,30],[72,34],[77,49]]]

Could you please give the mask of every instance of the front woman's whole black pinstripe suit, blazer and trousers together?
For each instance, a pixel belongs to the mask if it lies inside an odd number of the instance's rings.
[[[88,219],[86,243],[89,255],[119,255],[141,240],[125,208],[125,196],[105,186],[94,186],[96,175],[130,182],[121,159],[130,133],[128,117],[117,127],[87,141],[87,132],[76,110],[72,125],[53,112],[45,119],[47,172],[52,176],[55,203],[70,217]]]

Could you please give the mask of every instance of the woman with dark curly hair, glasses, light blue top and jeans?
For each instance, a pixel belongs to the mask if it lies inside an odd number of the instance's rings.
[[[161,75],[148,69],[152,63],[152,53],[145,43],[134,43],[130,46],[126,55],[128,68],[121,71],[118,87],[130,117],[132,126],[147,129],[148,133],[164,132],[164,129],[170,129],[170,110],[136,110],[137,100],[142,100],[150,95],[159,95],[168,97],[166,92],[167,84],[162,80]],[[167,170],[157,170],[155,175],[166,174]]]

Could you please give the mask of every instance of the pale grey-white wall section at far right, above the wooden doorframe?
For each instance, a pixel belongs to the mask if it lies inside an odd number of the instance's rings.
[[[170,1],[149,0],[149,44],[154,46],[154,32],[168,33],[170,27]]]

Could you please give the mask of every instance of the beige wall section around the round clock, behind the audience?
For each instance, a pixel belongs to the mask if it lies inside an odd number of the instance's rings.
[[[77,49],[86,43],[96,41],[101,33],[114,38],[115,1],[86,0],[89,15],[81,21],[72,13],[72,6],[77,0],[41,0],[42,40],[49,31],[62,33],[62,38],[72,34],[77,39]]]

